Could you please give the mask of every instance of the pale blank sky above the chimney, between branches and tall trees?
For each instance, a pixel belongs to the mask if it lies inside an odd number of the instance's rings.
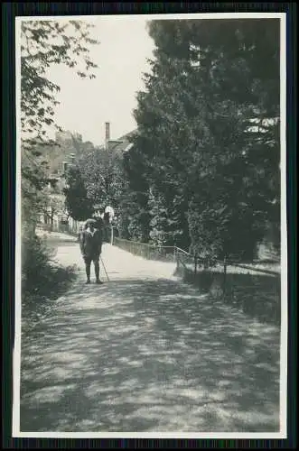
[[[145,89],[143,73],[150,71],[154,41],[145,29],[146,16],[92,17],[90,58],[98,64],[95,79],[79,78],[74,69],[53,66],[49,78],[61,87],[55,120],[63,129],[82,134],[83,141],[104,143],[105,122],[117,139],[135,129],[136,92]]]

